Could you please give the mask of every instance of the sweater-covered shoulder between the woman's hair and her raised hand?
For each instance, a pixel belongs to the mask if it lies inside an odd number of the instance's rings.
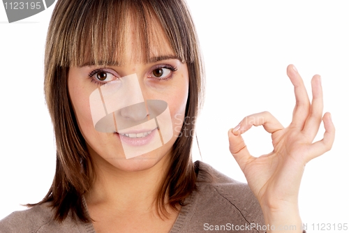
[[[196,230],[198,227],[202,231],[218,230],[218,227],[224,232],[239,225],[244,226],[246,232],[258,232],[251,225],[264,225],[260,204],[246,183],[235,181],[200,162],[197,185],[198,191],[191,197],[193,213],[187,216],[190,218],[188,227],[195,223]]]

